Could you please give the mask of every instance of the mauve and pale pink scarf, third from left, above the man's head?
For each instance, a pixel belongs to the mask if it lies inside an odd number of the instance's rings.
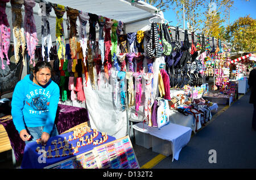
[[[33,7],[35,7],[35,0],[24,0],[25,16],[24,16],[24,30],[27,40],[27,52],[30,56],[30,64],[35,66],[35,49],[38,45],[38,37],[36,33],[35,18],[33,15]],[[34,61],[32,61],[34,60]]]

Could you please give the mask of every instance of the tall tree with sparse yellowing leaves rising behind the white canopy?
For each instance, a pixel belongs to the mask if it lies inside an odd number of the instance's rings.
[[[208,35],[210,24],[216,15],[218,25],[229,20],[230,8],[233,6],[233,0],[144,0],[160,10],[174,10],[176,12],[177,22],[181,24],[183,19],[183,4],[185,11],[185,21],[188,23],[190,31],[200,31]],[[216,28],[218,29],[218,28]]]

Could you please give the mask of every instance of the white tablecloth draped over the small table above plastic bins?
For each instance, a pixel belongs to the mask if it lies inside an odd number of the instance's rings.
[[[191,138],[191,128],[184,127],[180,125],[175,125],[174,123],[168,123],[168,125],[162,128],[149,127],[146,123],[137,123],[133,125],[133,128],[137,131],[141,131],[157,138],[168,140],[172,147],[172,161],[179,159],[179,153],[181,149],[188,144]]]

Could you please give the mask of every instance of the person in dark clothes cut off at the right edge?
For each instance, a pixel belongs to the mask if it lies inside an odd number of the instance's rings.
[[[251,89],[250,101],[253,104],[253,129],[256,131],[256,69],[250,71],[248,84]]]

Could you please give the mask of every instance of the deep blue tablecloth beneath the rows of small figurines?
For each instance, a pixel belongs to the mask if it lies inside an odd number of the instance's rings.
[[[54,136],[54,137],[49,138],[49,140],[45,146],[46,151],[48,150],[49,146],[51,146],[51,149],[55,149],[55,145],[51,144],[51,142],[53,140],[57,140],[57,142],[59,142],[59,138],[61,138],[61,141],[64,141],[64,138],[66,138],[68,140],[69,135],[72,135],[72,134],[73,134],[73,131],[65,133],[65,134],[61,134],[59,136]],[[91,134],[93,134],[93,131],[87,132],[83,137],[88,136],[90,138]],[[72,138],[73,138],[73,135],[72,135]],[[102,138],[102,134],[101,134],[101,132],[98,132],[98,135],[93,140],[100,140],[101,138]],[[108,139],[103,144],[112,142],[113,140],[115,140],[115,138],[113,136],[108,135]],[[71,147],[71,144],[73,145],[73,147],[76,147],[77,142],[79,142],[79,141],[80,141],[79,139],[70,141],[69,147]],[[81,141],[80,141],[80,144],[82,144]],[[102,144],[98,144],[98,145],[102,145]],[[63,160],[66,160],[67,158],[71,158],[73,156],[80,155],[81,153],[84,153],[86,151],[90,151],[98,145],[93,145],[93,143],[91,143],[91,144],[87,144],[85,146],[81,146],[78,149],[79,152],[75,153],[75,155],[68,155],[68,156],[61,156],[63,149],[59,149],[60,157],[45,158],[45,161],[43,161],[43,153],[36,151],[37,147],[40,147],[40,149],[42,149],[42,145],[38,144],[36,142],[31,142],[31,143],[26,144],[26,147],[24,149],[24,155],[23,155],[21,168],[23,168],[23,169],[44,168],[51,164],[55,164],[56,162],[63,161]],[[64,143],[63,143],[63,146],[64,146]],[[60,147],[60,144],[57,144],[57,148],[59,148],[59,147]],[[68,151],[66,153],[68,153]],[[48,153],[47,153],[47,155],[48,155]],[[52,156],[55,156],[55,151],[52,151]]]

